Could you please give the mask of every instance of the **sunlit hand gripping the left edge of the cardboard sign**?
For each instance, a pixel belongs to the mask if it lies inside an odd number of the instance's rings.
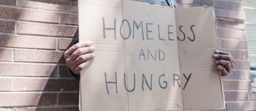
[[[73,45],[64,52],[67,66],[74,74],[79,75],[89,64],[88,60],[95,57],[94,51],[95,47],[90,41]]]

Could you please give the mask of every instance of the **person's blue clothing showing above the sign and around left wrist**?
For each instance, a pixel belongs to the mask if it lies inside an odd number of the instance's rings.
[[[150,2],[150,3],[156,3],[156,4],[162,4],[162,5],[168,5],[172,6],[175,8],[179,8],[179,5],[176,3],[175,0],[137,0],[137,1],[145,1],[145,2]],[[76,40],[74,41],[73,44],[76,44],[79,42],[79,30],[77,29],[76,34],[75,34]],[[74,74],[69,67],[67,67],[68,72],[72,77],[74,77],[76,80],[80,79],[79,75]]]

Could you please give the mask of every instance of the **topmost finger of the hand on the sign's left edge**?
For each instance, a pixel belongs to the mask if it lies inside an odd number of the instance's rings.
[[[64,56],[69,57],[78,48],[88,47],[88,46],[91,46],[92,44],[93,43],[91,41],[86,41],[86,42],[83,42],[83,43],[77,43],[77,44],[71,46],[67,51],[65,51]]]

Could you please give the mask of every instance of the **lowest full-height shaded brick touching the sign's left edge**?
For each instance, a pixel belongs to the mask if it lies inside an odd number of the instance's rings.
[[[79,93],[59,93],[58,105],[78,105]]]

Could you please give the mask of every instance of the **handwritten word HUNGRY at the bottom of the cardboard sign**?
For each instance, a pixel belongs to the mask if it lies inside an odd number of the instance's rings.
[[[192,73],[190,73],[189,76],[187,76],[186,74],[183,74],[183,76],[186,79],[186,83],[183,86],[183,90],[186,88],[186,85],[188,84],[188,82],[189,82],[189,80],[191,78],[191,75],[192,75]],[[126,74],[124,73],[124,87],[125,87],[125,90],[127,90],[128,92],[135,91],[135,84],[136,84],[135,73],[133,74],[133,76],[134,76],[133,88],[132,89],[128,89],[127,86],[126,86]],[[159,84],[160,88],[166,89],[167,85],[168,85],[168,82],[167,81],[161,81],[161,79],[164,78],[164,77],[165,77],[164,73],[158,77],[158,84]],[[175,87],[175,83],[176,83],[178,85],[178,87],[180,88],[181,85],[180,85],[179,81],[180,81],[180,75],[179,74],[173,74],[173,87]],[[106,89],[107,89],[107,93],[108,94],[109,94],[108,85],[110,85],[110,84],[115,84],[116,85],[116,94],[118,94],[116,72],[115,72],[115,81],[108,81],[107,73],[105,72],[105,82],[104,83],[106,84]],[[141,84],[142,91],[144,91],[144,83],[147,85],[148,89],[150,91],[152,91],[152,74],[150,76],[150,80],[147,80],[146,77],[145,77],[145,74],[142,74],[142,84]],[[161,84],[161,83],[163,83],[163,84]]]

